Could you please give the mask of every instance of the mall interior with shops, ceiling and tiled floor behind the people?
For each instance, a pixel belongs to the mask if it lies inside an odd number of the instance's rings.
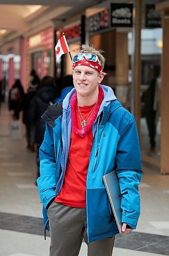
[[[116,236],[113,255],[169,255],[169,0],[0,0],[0,9],[0,255],[49,255],[36,152],[26,147],[22,112],[20,130],[11,131],[9,92],[19,79],[26,93],[32,70],[56,81],[72,74],[69,54],[55,62],[63,32],[72,56],[82,44],[105,52],[102,84],[137,124],[140,218],[136,230]],[[79,255],[87,255],[85,242]]]

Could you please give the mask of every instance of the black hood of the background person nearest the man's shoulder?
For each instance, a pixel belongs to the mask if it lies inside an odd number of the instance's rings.
[[[57,92],[52,86],[44,86],[39,88],[37,96],[42,99],[43,102],[49,103],[57,97]]]

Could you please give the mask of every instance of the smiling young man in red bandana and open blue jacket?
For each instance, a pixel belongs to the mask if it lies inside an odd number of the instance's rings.
[[[58,103],[43,115],[37,182],[49,218],[50,256],[78,255],[83,238],[88,256],[112,255],[119,231],[103,183],[112,170],[120,182],[123,234],[136,228],[142,176],[136,124],[111,88],[100,86],[103,68],[102,52],[83,45],[73,57],[75,88],[63,113]]]

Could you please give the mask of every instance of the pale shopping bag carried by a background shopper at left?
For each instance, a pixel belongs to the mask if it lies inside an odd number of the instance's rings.
[[[9,123],[9,136],[11,139],[22,138],[21,125],[19,120],[14,120]]]

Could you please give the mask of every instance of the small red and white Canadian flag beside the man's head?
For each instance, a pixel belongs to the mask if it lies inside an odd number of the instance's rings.
[[[55,46],[55,58],[56,58],[56,63],[57,60],[60,59],[62,54],[70,52],[66,37],[65,35],[62,35],[61,38],[58,40],[57,45]]]

